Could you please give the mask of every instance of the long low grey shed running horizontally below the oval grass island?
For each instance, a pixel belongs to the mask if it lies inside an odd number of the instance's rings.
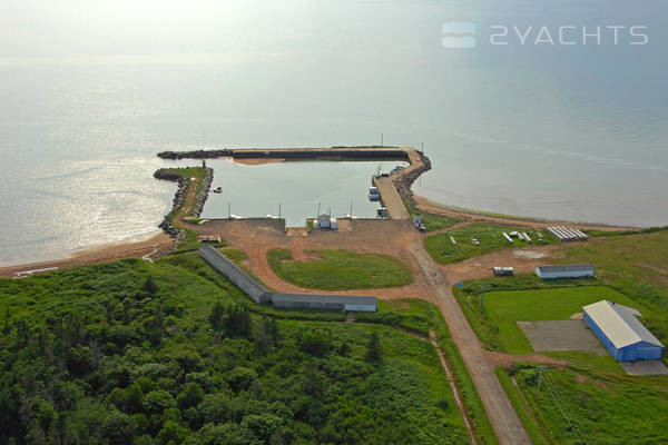
[[[303,294],[274,294],[275,307],[353,310],[358,313],[374,313],[376,297],[355,297],[347,295],[303,295]]]

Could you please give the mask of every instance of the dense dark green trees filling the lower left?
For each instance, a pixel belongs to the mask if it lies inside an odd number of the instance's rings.
[[[219,289],[190,304],[198,288],[175,297],[183,283],[148,267],[160,268],[121,261],[0,280],[0,443],[431,442],[383,392],[377,335],[354,345],[326,324],[285,329]]]

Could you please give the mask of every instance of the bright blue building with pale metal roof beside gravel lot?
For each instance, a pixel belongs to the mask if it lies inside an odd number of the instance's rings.
[[[582,308],[587,326],[617,362],[658,360],[664,345],[638,319],[633,308],[606,299]]]

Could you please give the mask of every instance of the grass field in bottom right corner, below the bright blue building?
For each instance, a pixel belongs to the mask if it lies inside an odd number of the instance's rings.
[[[540,397],[536,366],[512,372],[517,387],[498,370],[536,445],[668,443],[668,376],[628,376],[610,356],[550,355],[570,365],[543,372]]]

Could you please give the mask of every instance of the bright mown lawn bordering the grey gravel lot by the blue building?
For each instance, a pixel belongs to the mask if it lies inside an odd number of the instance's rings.
[[[582,312],[582,306],[601,299],[636,307],[641,313],[649,310],[606,286],[491,291],[479,298],[482,299],[482,310],[489,323],[499,329],[500,348],[510,354],[533,352],[517,322],[568,319],[574,313]]]

